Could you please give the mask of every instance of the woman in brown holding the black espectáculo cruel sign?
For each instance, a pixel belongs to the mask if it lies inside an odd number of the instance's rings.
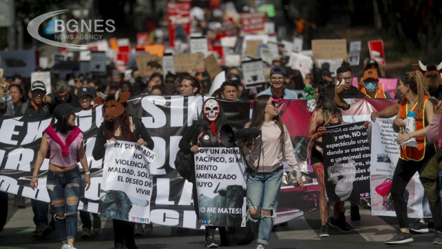
[[[313,141],[310,154],[311,165],[320,186],[319,212],[321,228],[319,237],[329,237],[329,203],[327,202],[327,193],[325,192],[322,136],[327,133],[325,127],[344,123],[342,113],[334,101],[334,88],[335,86],[333,84],[328,84],[318,89],[318,104],[313,113],[311,113],[307,130],[307,138],[309,138],[310,142]],[[344,213],[341,212],[343,207],[343,201],[336,201],[334,203],[334,215],[332,219],[330,219],[330,223],[339,230],[348,232],[351,228],[345,222]]]

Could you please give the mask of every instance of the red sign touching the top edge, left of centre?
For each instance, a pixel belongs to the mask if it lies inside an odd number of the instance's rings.
[[[189,35],[191,30],[191,1],[167,3],[169,45],[175,47],[175,37]]]

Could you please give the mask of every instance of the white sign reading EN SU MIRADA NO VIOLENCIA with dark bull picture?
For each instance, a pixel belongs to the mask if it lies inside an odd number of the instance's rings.
[[[107,141],[98,205],[100,216],[151,223],[150,165],[155,157],[155,152],[135,142]]]

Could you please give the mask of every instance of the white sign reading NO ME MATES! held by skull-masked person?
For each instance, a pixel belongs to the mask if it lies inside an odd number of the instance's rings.
[[[246,180],[238,148],[202,148],[195,154],[202,225],[246,225]]]

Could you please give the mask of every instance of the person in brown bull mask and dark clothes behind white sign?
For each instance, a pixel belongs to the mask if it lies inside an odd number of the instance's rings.
[[[99,93],[99,96],[94,99],[96,104],[103,104],[104,117],[102,125],[98,128],[92,152],[95,160],[104,157],[107,140],[113,140],[115,143],[118,143],[118,140],[137,142],[138,146],[144,145],[149,149],[153,149],[153,140],[142,121],[132,118],[124,109],[130,96],[131,93],[119,93],[117,91],[115,95],[107,96]],[[115,248],[123,249],[125,246],[128,249],[136,249],[133,234],[135,223],[117,219],[113,219],[112,223]]]

